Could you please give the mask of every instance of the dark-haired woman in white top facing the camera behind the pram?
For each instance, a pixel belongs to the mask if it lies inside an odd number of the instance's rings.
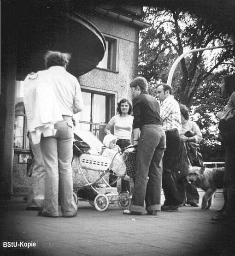
[[[122,99],[118,102],[117,108],[118,114],[113,116],[105,128],[105,133],[110,134],[111,128],[113,127],[114,136],[118,138],[117,145],[123,149],[129,145],[131,145],[131,133],[133,126],[133,116],[131,116],[132,105],[128,99]],[[109,184],[112,186],[117,186],[117,182],[115,180],[117,177],[115,175],[110,174],[109,176]],[[130,193],[130,183],[129,181],[122,179],[122,191],[129,191]]]

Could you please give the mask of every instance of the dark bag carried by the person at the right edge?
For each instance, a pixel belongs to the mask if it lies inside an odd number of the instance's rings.
[[[218,139],[226,144],[232,145],[235,143],[235,110],[228,110],[219,120],[219,135]]]

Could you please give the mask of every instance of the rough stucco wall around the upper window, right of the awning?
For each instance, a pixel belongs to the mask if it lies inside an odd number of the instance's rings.
[[[105,36],[117,38],[118,72],[95,68],[79,77],[79,82],[83,86],[115,91],[118,95],[117,101],[123,97],[131,99],[129,83],[138,75],[139,31],[108,18],[92,16],[84,16],[84,18],[88,18]]]

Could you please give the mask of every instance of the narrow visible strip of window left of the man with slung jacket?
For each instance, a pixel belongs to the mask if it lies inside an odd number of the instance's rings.
[[[27,137],[27,122],[24,110],[24,82],[16,81],[16,104],[14,120],[14,148],[29,150],[29,139]]]

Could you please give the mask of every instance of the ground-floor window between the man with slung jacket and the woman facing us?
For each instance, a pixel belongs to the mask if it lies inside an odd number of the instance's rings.
[[[89,130],[103,141],[104,128],[115,113],[115,95],[82,90],[82,99],[84,109],[77,114],[79,129]]]

